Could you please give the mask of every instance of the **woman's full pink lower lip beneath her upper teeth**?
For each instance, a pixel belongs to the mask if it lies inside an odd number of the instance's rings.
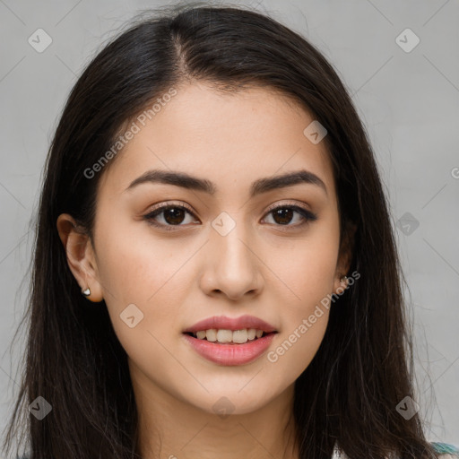
[[[262,338],[244,344],[209,342],[185,333],[184,336],[193,349],[205,359],[221,365],[244,365],[258,359],[268,349],[274,334],[276,333],[268,333]]]

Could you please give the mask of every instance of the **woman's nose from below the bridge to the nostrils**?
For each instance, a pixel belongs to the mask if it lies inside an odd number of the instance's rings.
[[[207,295],[224,295],[239,300],[260,293],[263,277],[262,257],[257,254],[254,238],[249,238],[242,223],[223,235],[212,228],[204,255],[201,289]]]

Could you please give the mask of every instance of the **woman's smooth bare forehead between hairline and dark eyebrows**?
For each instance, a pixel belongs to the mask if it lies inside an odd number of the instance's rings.
[[[177,87],[168,100],[151,119],[134,118],[138,132],[103,174],[100,193],[122,193],[149,169],[207,178],[217,193],[236,183],[248,191],[256,178],[307,169],[334,194],[325,142],[304,134],[314,117],[292,98],[264,88],[222,93],[196,82]]]

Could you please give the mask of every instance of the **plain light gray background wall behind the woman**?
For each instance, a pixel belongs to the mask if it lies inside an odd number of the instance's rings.
[[[24,334],[12,354],[8,346],[25,307],[30,221],[57,119],[104,41],[160,4],[0,0],[0,429],[18,389]],[[431,440],[459,444],[459,3],[233,4],[256,6],[303,34],[349,88],[377,153],[409,284],[425,429]],[[42,53],[28,42],[39,28],[52,39]],[[420,39],[412,49],[407,28]],[[407,222],[411,216],[419,226]]]

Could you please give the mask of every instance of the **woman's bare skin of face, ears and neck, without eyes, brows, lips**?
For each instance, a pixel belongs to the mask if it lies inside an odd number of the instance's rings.
[[[348,246],[339,247],[325,143],[311,143],[303,134],[313,119],[266,89],[221,94],[203,82],[187,84],[100,172],[93,240],[69,214],[57,220],[76,281],[90,287],[91,301],[105,299],[128,354],[138,452],[145,459],[230,459],[235,451],[255,459],[298,458],[293,385],[316,354],[329,311],[274,363],[265,354],[241,366],[212,363],[185,342],[182,331],[206,317],[249,314],[277,329],[268,349],[273,351],[321,299],[343,287],[351,254]],[[217,191],[207,195],[159,183],[125,191],[149,169],[206,178]],[[299,169],[321,178],[326,193],[303,183],[249,199],[256,179]],[[194,215],[167,220],[162,212],[155,220],[173,230],[156,228],[143,219],[154,204],[187,204]],[[272,204],[302,206],[317,220],[305,222],[293,212],[282,225],[267,212]],[[236,224],[226,236],[212,228],[221,212]],[[143,320],[130,328],[120,314],[133,303]],[[221,397],[234,410],[228,417],[213,408]]]

